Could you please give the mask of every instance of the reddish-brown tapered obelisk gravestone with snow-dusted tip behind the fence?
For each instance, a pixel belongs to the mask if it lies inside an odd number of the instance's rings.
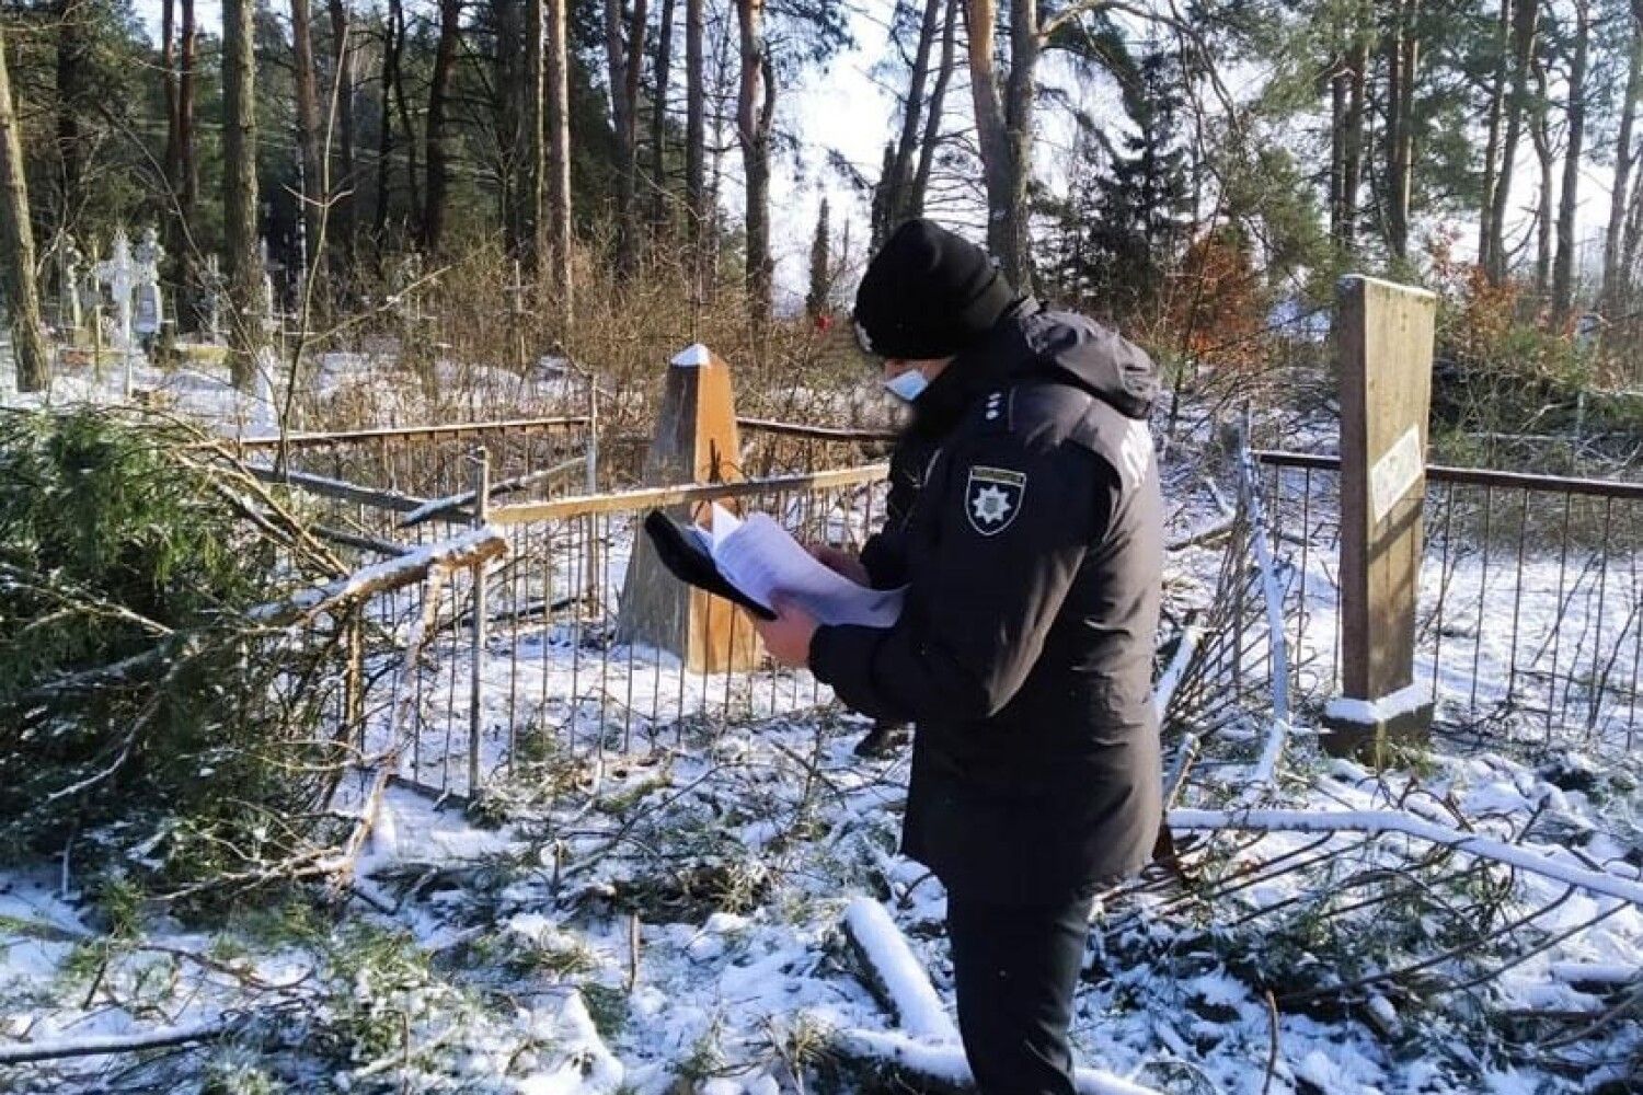
[[[741,479],[741,440],[729,366],[706,346],[674,358],[644,460],[646,486]],[[711,507],[692,514],[706,527]],[[683,519],[680,507],[675,517]],[[679,655],[698,673],[728,673],[759,663],[759,635],[739,607],[674,578],[642,534],[623,584],[618,637]]]

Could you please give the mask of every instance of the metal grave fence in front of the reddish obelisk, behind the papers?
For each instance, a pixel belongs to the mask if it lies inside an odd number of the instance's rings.
[[[830,691],[802,670],[702,673],[629,642],[628,563],[651,509],[708,501],[767,512],[802,540],[859,545],[882,522],[886,473],[866,465],[488,507],[483,520],[511,550],[483,593],[472,571],[453,573],[437,604],[424,602],[426,591],[393,593],[376,616],[399,632],[424,612],[430,621],[421,663],[404,678],[414,714],[401,731],[399,775],[465,795],[521,765],[596,773],[608,754],[636,744],[711,737],[731,721],[828,703]],[[723,639],[734,644],[734,630]]]

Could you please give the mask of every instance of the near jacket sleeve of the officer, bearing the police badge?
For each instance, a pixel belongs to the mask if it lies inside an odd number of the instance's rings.
[[[1019,494],[989,486],[1012,476],[1020,476]],[[1106,465],[1088,450],[1033,451],[1010,435],[969,438],[941,456],[920,496],[910,589],[895,627],[822,627],[810,670],[846,706],[876,719],[997,714],[1038,660],[1112,504]]]

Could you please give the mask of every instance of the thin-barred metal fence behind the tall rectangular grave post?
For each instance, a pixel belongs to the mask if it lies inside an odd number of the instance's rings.
[[[1339,461],[1260,451],[1296,691],[1341,685]],[[1631,747],[1643,483],[1428,468],[1416,675],[1452,724]]]

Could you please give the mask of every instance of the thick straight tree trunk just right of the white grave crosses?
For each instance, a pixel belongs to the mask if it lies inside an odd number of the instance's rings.
[[[263,271],[256,246],[256,53],[253,2],[222,5],[223,243],[228,256],[228,364],[233,384],[250,389],[263,345],[258,314]]]

